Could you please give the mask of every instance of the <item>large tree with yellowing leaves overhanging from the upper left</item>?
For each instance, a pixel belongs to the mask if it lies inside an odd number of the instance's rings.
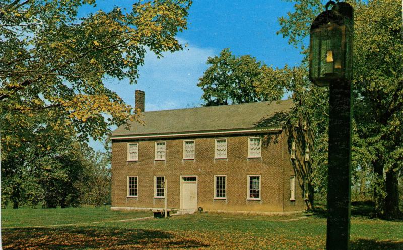
[[[95,0],[0,3],[2,186],[13,186],[16,207],[23,173],[51,154],[63,133],[85,142],[137,120],[139,110],[105,79],[135,83],[146,48],[159,57],[182,49],[175,36],[186,29],[191,0],[138,1],[127,12],[115,7],[77,18],[83,4]]]

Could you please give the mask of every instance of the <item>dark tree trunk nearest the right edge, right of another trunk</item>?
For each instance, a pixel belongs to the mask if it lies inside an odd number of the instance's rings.
[[[385,214],[389,218],[398,218],[401,216],[399,209],[399,186],[398,173],[389,169],[386,171],[386,197]]]

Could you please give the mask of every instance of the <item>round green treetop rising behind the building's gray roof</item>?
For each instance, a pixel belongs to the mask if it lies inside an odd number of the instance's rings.
[[[236,57],[229,49],[220,56],[209,57],[211,66],[197,84],[203,90],[205,106],[279,100],[283,89],[272,81],[281,77],[278,70],[268,67],[249,55]],[[259,88],[267,91],[258,92]]]

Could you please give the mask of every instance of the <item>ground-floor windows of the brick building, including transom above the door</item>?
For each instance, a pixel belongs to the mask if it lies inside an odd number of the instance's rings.
[[[184,177],[184,181],[195,182],[196,177]],[[260,200],[260,175],[248,175],[248,200]],[[127,177],[127,197],[137,197],[138,177]],[[165,198],[165,176],[154,176],[154,198]],[[227,199],[227,176],[214,176],[214,199]],[[295,176],[290,177],[290,200],[295,200]]]

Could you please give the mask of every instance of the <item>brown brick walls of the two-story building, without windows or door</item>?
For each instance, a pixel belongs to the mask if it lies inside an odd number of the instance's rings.
[[[112,143],[112,206],[161,208],[164,199],[154,197],[154,176],[168,180],[168,206],[179,209],[180,176],[197,176],[198,206],[204,210],[283,212],[303,210],[298,199],[290,205],[292,166],[284,133],[262,146],[262,157],[248,159],[248,137],[192,138],[195,159],[183,160],[184,139],[132,140]],[[227,138],[227,159],[214,159],[214,139]],[[274,135],[271,135],[274,138]],[[155,141],[166,142],[166,160],[154,161]],[[139,159],[127,161],[127,143],[138,142]],[[263,143],[264,144],[264,143]],[[127,176],[138,176],[138,197],[127,198]],[[227,176],[227,199],[214,199],[214,175]],[[261,200],[247,200],[248,175],[261,175]],[[298,185],[296,185],[298,188]],[[298,189],[297,189],[298,190]],[[296,192],[296,197],[298,191]]]

